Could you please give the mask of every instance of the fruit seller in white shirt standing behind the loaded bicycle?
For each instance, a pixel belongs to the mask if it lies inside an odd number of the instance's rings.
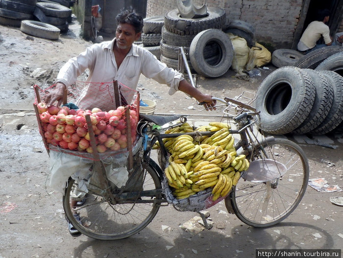
[[[188,83],[180,72],[168,68],[147,49],[133,44],[141,36],[143,28],[141,16],[138,16],[131,8],[118,14],[116,20],[118,27],[116,37],[112,41],[88,47],[61,68],[57,75],[55,90],[45,97],[48,106],[51,106],[55,101],[58,101],[57,105],[59,106],[62,103],[63,93],[75,83],[83,71],[89,69],[90,73],[87,78],[89,83],[86,84],[86,89],[82,91],[75,103],[81,109],[93,107],[103,111],[113,109],[113,87],[101,90],[95,82],[117,80],[120,84],[135,90],[141,74],[161,84],[167,84],[170,87],[170,95],[176,91],[182,91],[195,97],[198,102],[205,102],[204,107],[206,109],[215,109],[216,102],[212,100],[211,95],[202,94]],[[133,95],[127,92],[122,94],[128,102],[131,101]],[[75,198],[71,206],[75,207],[76,203],[77,199]],[[76,213],[74,216],[77,218]],[[78,234],[71,223],[68,227],[71,234]]]

